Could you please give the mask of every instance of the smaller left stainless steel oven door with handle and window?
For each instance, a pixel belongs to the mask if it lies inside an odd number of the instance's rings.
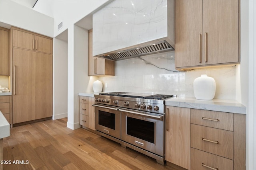
[[[95,129],[112,137],[121,139],[120,107],[93,104],[95,107]]]

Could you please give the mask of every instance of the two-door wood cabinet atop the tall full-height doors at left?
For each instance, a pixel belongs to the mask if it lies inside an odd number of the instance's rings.
[[[52,54],[53,41],[51,38],[40,36],[18,28],[12,29],[13,47],[34,50]]]

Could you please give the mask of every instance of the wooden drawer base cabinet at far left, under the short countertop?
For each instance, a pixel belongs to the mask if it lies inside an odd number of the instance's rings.
[[[0,96],[0,111],[3,113],[6,120],[11,121],[11,96]]]

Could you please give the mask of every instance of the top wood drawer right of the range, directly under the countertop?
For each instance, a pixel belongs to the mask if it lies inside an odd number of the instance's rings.
[[[233,131],[233,113],[191,109],[191,123]]]

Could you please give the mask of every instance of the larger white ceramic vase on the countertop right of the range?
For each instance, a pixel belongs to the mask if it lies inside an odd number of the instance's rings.
[[[196,99],[212,100],[216,92],[216,83],[214,78],[202,74],[194,80],[193,88]]]

